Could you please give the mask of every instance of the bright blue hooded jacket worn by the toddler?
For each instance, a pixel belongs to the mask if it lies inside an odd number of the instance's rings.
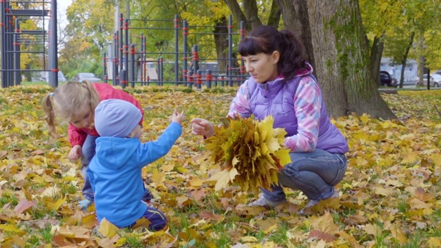
[[[147,205],[141,169],[170,151],[182,127],[170,123],[157,141],[141,143],[138,138],[99,137],[96,155],[88,166],[94,191],[96,216],[117,227],[127,227],[141,218]]]

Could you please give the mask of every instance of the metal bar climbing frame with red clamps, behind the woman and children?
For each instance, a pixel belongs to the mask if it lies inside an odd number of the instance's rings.
[[[130,27],[130,21],[143,21],[148,28],[132,28]],[[165,21],[173,23],[173,27],[170,28],[156,28],[152,26],[152,23],[157,21]],[[194,28],[207,28],[207,26],[191,26],[187,21],[179,21],[178,15],[174,16],[173,20],[157,20],[157,19],[124,19],[123,14],[120,14],[119,30],[114,33],[113,48],[114,56],[108,58],[106,53],[103,56],[104,65],[104,80],[112,79],[113,85],[121,85],[126,87],[130,84],[134,87],[136,84],[150,85],[150,83],[156,83],[156,85],[163,85],[164,83],[173,83],[174,85],[184,85],[197,88],[201,88],[201,85],[205,83],[207,87],[212,85],[229,85],[234,83],[242,83],[245,79],[245,70],[243,61],[240,61],[240,65],[234,68],[234,61],[238,59],[234,58],[233,48],[233,36],[239,35],[240,41],[245,35],[245,24],[243,21],[240,23],[240,32],[233,32],[232,17],[229,16],[229,24],[225,27],[228,32],[225,35],[228,40],[228,57],[227,70],[225,72],[219,71],[216,62],[207,63],[205,61],[220,61],[221,59],[207,59],[201,58],[198,53],[198,45],[192,46],[192,52],[187,52],[188,36],[189,35],[213,35],[213,33],[201,33],[191,32]],[[180,28],[182,23],[182,28]],[[171,25],[170,25],[171,26]],[[130,30],[163,30],[164,32],[174,31],[174,52],[152,52],[147,48],[147,37],[141,33],[139,37],[132,37]],[[179,33],[182,32],[182,39],[180,39]],[[139,43],[130,43],[129,37],[136,38]],[[182,42],[182,48],[180,50],[179,41]],[[164,80],[164,59],[159,56],[157,59],[152,59],[155,55],[171,54],[174,55],[174,61],[167,61],[174,66],[174,81]],[[179,57],[182,56],[182,61]],[[189,68],[188,63],[192,62],[192,68]],[[202,62],[201,62],[202,61]],[[111,64],[111,66],[108,66]],[[154,66],[152,66],[154,64]],[[180,66],[182,65],[182,66]],[[211,65],[211,66],[210,66]],[[126,69],[127,68],[127,69]],[[206,68],[207,70],[198,70],[198,68]],[[216,70],[213,70],[216,68]],[[110,73],[109,73],[110,71]],[[138,72],[138,73],[136,73]],[[110,74],[110,75],[109,75]]]

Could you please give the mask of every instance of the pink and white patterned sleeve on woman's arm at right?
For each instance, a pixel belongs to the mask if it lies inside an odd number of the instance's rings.
[[[316,81],[305,76],[300,81],[294,96],[297,134],[285,138],[285,145],[291,149],[291,152],[312,152],[316,149],[321,103],[322,94]]]

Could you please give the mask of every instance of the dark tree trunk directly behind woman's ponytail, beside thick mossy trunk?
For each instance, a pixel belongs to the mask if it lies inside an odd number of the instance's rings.
[[[314,49],[309,29],[308,6],[304,0],[275,0],[282,9],[282,19],[285,28],[292,30],[305,45],[307,61],[315,68]]]

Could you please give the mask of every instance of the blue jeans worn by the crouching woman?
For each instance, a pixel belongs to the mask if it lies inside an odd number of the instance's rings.
[[[272,192],[262,189],[265,199],[285,200],[283,187],[298,189],[310,200],[326,199],[334,193],[334,186],[345,176],[345,154],[331,154],[315,149],[314,152],[291,152],[289,156],[291,163],[280,169],[279,185],[273,185]]]

